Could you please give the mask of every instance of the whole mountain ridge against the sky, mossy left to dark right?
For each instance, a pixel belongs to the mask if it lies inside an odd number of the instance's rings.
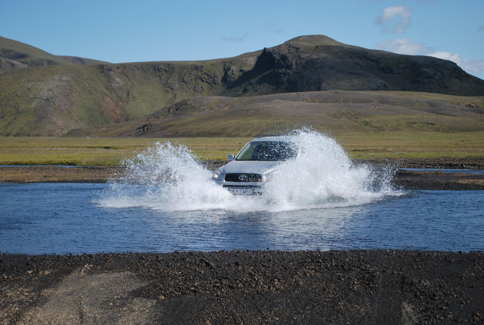
[[[60,136],[79,127],[138,120],[194,96],[334,89],[484,95],[484,80],[454,62],[350,46],[324,35],[194,62],[94,62],[5,38],[0,48],[2,69],[3,62],[11,63],[0,75],[4,136]]]

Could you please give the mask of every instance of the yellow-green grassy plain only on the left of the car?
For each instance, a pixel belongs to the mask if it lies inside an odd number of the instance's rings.
[[[117,166],[157,141],[184,144],[200,159],[227,159],[251,139],[6,137],[0,142],[0,165]]]

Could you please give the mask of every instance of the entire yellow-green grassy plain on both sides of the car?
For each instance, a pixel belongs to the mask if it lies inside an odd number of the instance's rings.
[[[333,138],[352,158],[484,156],[484,132],[359,132]],[[0,142],[0,165],[117,166],[157,141],[184,144],[200,159],[227,159],[251,139],[6,137]]]

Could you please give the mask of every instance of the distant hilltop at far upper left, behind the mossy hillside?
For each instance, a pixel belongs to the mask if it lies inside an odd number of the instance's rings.
[[[0,36],[0,75],[5,72],[35,66],[100,63],[107,62],[74,56],[53,55],[40,48]]]

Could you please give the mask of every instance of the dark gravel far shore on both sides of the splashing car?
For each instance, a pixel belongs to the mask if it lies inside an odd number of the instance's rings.
[[[209,170],[215,170],[226,163],[224,160],[203,162]],[[484,170],[484,158],[374,158],[357,160],[355,163],[400,168]],[[0,167],[0,183],[107,183],[111,177],[122,173],[122,167],[10,166]],[[484,174],[399,170],[393,184],[415,190],[484,190]]]

